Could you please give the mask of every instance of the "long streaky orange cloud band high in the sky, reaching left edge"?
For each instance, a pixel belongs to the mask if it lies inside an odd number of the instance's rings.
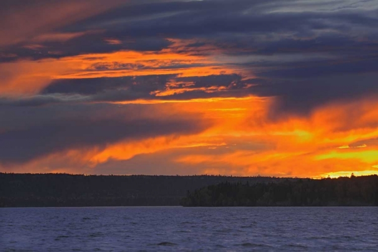
[[[198,66],[198,64],[203,66]],[[177,67],[183,65],[183,67]],[[193,67],[191,66],[193,65]],[[5,96],[33,94],[53,79],[81,79],[160,74],[178,74],[182,77],[234,73],[226,66],[204,56],[182,55],[170,52],[119,51],[109,54],[87,54],[61,59],[39,61],[20,60],[1,63],[3,76],[0,93]]]

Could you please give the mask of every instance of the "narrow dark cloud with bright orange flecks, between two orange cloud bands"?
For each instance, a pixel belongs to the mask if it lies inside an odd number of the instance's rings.
[[[242,80],[237,74],[223,74],[196,77],[177,75],[148,75],[119,78],[91,78],[56,80],[47,86],[39,99],[14,101],[13,105],[33,105],[38,102],[65,102],[65,97],[77,97],[77,101],[115,102],[134,99],[190,99],[216,96],[243,96],[251,80]],[[254,82],[257,82],[254,81]],[[172,85],[174,83],[174,85]],[[184,92],[181,89],[184,88]],[[199,88],[204,88],[203,90]],[[207,89],[211,88],[211,89]],[[219,88],[219,90],[217,90]],[[158,96],[160,92],[174,90],[169,95]],[[81,96],[75,96],[80,94]],[[56,96],[57,95],[57,96]],[[74,96],[73,96],[74,95]],[[85,96],[83,96],[85,95]],[[42,98],[42,97],[55,97]],[[71,101],[72,101],[71,99]],[[11,103],[11,102],[9,102]]]

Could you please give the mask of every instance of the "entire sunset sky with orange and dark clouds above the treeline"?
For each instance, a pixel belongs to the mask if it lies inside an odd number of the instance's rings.
[[[375,0],[3,0],[0,172],[378,174]]]

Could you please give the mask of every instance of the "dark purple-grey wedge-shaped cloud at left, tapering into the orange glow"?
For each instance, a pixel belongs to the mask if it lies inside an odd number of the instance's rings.
[[[61,107],[3,108],[0,114],[13,112],[17,119],[2,124],[0,163],[22,163],[68,149],[103,148],[121,140],[195,134],[209,126],[195,116],[157,116],[141,106],[68,106],[74,112]],[[156,116],[148,116],[150,113]]]

